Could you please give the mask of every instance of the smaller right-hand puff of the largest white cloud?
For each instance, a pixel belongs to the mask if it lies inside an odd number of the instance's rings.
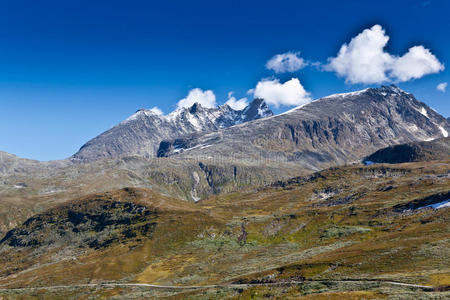
[[[391,75],[398,81],[421,78],[427,74],[444,70],[444,65],[430,50],[423,46],[409,48],[408,52],[395,60]]]

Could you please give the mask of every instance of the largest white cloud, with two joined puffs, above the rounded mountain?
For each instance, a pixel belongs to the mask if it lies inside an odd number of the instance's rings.
[[[342,45],[336,57],[328,58],[325,70],[334,71],[348,83],[373,84],[408,81],[444,70],[439,60],[423,46],[414,46],[401,57],[384,51],[389,36],[380,25]]]

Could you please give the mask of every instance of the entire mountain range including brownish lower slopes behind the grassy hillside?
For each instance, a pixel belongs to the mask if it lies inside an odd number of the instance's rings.
[[[198,201],[449,131],[448,120],[393,85],[330,95],[280,115],[262,99],[241,111],[198,103],[165,116],[143,109],[65,160],[0,152],[0,196],[63,199],[134,186]]]

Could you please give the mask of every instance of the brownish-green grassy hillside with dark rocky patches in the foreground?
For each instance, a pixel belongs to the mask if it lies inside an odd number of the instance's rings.
[[[449,208],[425,206],[449,199],[448,163],[333,168],[196,204],[136,188],[56,204],[0,242],[0,287],[71,287],[0,296],[444,299]],[[220,286],[73,286],[103,282]]]

